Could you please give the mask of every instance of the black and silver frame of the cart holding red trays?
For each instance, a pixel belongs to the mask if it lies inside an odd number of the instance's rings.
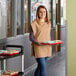
[[[18,57],[21,56],[21,72],[19,72],[19,74],[17,76],[22,76],[23,72],[24,72],[24,54],[23,54],[23,46],[21,45],[6,45],[3,47],[3,50],[6,50],[7,48],[20,48],[21,51],[19,54],[16,55],[12,55],[12,56],[0,56],[0,61],[1,61],[1,70],[6,70],[6,59],[9,58],[14,58],[14,57]]]

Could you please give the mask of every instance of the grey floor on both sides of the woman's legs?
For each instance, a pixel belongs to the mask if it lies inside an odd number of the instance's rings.
[[[34,76],[34,70],[25,76]],[[59,52],[47,62],[47,76],[65,76],[65,53]]]

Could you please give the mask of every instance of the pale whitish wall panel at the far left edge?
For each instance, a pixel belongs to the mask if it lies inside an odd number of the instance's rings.
[[[0,0],[0,39],[6,38],[7,25],[7,7],[6,0]]]

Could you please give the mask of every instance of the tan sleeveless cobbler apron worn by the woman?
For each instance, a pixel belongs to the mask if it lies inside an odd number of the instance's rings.
[[[36,20],[31,23],[31,27],[33,30],[34,38],[38,42],[50,41],[50,30],[51,24],[47,24],[46,22],[42,24],[38,24]],[[51,45],[37,45],[33,44],[32,54],[36,58],[41,57],[50,57],[52,55],[52,46]]]

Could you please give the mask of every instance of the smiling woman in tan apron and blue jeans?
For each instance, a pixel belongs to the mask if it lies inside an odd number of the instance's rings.
[[[50,41],[51,24],[48,20],[48,12],[45,6],[37,8],[36,19],[30,26],[30,40],[33,46],[33,55],[38,63],[35,76],[46,76],[46,61],[51,56],[50,45],[42,45],[42,42]]]

